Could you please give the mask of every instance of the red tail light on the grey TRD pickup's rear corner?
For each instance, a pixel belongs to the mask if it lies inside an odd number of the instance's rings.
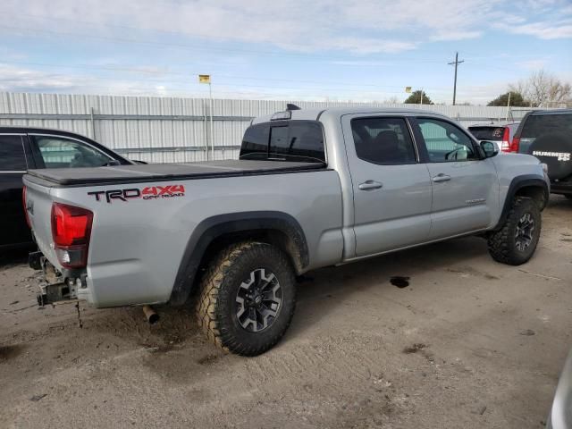
[[[66,204],[52,205],[52,237],[55,253],[65,268],[82,268],[88,262],[93,213]]]

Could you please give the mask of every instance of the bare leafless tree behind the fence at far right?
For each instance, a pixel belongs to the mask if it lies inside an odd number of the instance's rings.
[[[556,107],[567,105],[572,98],[572,87],[555,76],[540,70],[526,80],[519,80],[509,89],[522,94],[526,103],[534,107]]]

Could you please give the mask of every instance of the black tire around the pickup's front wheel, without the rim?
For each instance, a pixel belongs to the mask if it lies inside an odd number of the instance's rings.
[[[525,249],[517,248],[517,224],[525,215],[530,214],[534,221],[532,241]],[[533,255],[542,227],[542,217],[538,205],[531,198],[517,197],[510,207],[509,214],[499,231],[494,231],[489,236],[489,253],[497,262],[507,265],[521,265],[526,263]]]

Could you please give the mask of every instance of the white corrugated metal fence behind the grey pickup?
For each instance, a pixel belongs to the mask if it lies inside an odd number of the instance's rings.
[[[463,125],[519,120],[529,109],[471,105],[387,105],[382,103],[215,99],[214,157],[238,156],[244,130],[253,117],[285,109],[374,105],[423,108]],[[132,159],[152,163],[204,161],[210,142],[209,100],[174,97],[115,97],[0,93],[0,125],[70,130]],[[210,157],[210,155],[208,155]]]

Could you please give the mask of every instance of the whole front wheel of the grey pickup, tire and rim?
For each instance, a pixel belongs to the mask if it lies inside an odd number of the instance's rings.
[[[541,226],[542,217],[534,200],[515,198],[501,230],[489,237],[489,253],[503,264],[524,264],[534,255]]]

